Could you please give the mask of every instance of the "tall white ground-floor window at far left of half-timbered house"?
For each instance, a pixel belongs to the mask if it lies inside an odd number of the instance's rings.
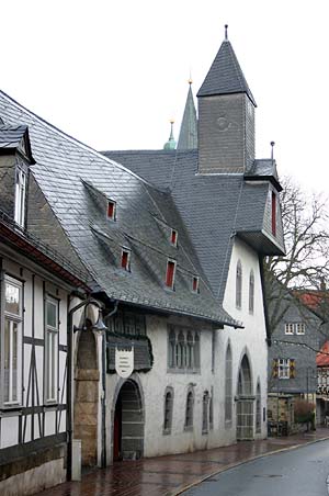
[[[22,320],[23,286],[4,277],[4,328],[1,336],[1,372],[3,406],[21,404],[22,390]]]

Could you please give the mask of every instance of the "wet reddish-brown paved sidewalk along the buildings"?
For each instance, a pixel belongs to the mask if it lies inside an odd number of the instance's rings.
[[[242,441],[238,444],[194,453],[117,462],[95,470],[81,482],[64,483],[38,493],[39,496],[170,496],[241,462],[329,439],[329,429],[316,432]]]

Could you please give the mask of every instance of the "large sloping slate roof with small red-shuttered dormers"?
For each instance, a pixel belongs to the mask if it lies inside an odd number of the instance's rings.
[[[9,125],[29,126],[36,160],[31,171],[99,290],[121,302],[238,324],[212,294],[168,192],[58,131],[3,92],[0,115]],[[116,202],[116,222],[106,218],[106,198]],[[168,243],[170,227],[178,229],[178,248]],[[34,234],[42,237],[43,228],[35,224]],[[132,272],[120,267],[122,247],[132,250]],[[178,263],[175,291],[163,284],[168,257]],[[191,291],[192,274],[201,278],[200,294]]]

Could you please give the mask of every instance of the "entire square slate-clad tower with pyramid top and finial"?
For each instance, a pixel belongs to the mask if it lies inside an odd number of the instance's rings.
[[[197,93],[198,172],[242,173],[254,160],[256,102],[227,38]]]

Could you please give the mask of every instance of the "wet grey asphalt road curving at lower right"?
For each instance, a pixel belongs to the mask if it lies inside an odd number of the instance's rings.
[[[184,496],[328,496],[329,440],[222,472]],[[329,478],[328,478],[329,484]]]

